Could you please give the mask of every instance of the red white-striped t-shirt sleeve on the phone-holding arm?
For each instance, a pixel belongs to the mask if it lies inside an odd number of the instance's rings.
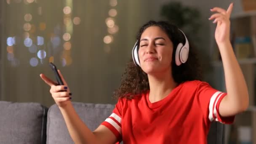
[[[122,138],[122,100],[119,99],[117,101],[117,104],[115,105],[114,110],[112,111],[112,114],[101,123],[101,125],[106,126],[109,128],[112,133],[115,134],[117,139],[120,141]]]

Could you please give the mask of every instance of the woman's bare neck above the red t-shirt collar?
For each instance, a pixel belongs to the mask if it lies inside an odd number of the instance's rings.
[[[149,79],[149,101],[156,102],[168,96],[177,86],[170,71],[159,75],[148,75]]]

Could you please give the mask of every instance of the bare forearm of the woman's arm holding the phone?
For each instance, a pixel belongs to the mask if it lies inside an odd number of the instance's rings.
[[[96,144],[96,136],[93,132],[83,123],[80,117],[75,112],[71,102],[64,108],[59,107],[64,117],[65,123],[69,134],[75,144]]]

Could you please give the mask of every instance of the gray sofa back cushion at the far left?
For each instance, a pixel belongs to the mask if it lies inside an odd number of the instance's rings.
[[[45,144],[47,108],[0,101],[0,144]]]

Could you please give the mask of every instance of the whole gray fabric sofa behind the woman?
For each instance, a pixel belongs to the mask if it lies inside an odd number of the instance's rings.
[[[94,130],[112,112],[112,104],[72,102],[80,118]],[[224,126],[213,122],[208,144],[222,144]],[[0,144],[73,144],[56,104],[0,101]]]

